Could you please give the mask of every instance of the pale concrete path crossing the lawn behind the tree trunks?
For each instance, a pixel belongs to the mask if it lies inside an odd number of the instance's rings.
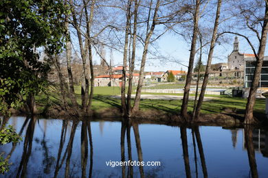
[[[111,96],[116,99],[120,99],[121,95],[113,95]],[[131,94],[131,98],[135,98],[135,94]],[[156,95],[156,94],[142,94],[141,99],[161,99],[161,100],[177,100],[183,99],[183,96],[176,95]],[[189,97],[190,100],[194,100],[194,97]],[[217,97],[205,97],[204,101],[210,101],[212,99],[217,99]]]

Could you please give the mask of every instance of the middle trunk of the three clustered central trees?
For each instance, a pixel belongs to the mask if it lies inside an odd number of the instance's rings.
[[[127,94],[127,114],[128,117],[131,116],[131,93],[132,93],[132,81],[133,81],[133,74],[134,74],[134,67],[135,67],[135,55],[136,55],[136,40],[137,40],[137,8],[139,4],[137,0],[135,0],[135,8],[134,8],[134,27],[133,27],[133,42],[132,42],[132,55],[131,61],[129,62],[129,88]]]

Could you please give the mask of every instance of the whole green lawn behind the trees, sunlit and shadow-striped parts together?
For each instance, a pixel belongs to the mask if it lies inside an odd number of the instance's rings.
[[[80,87],[76,86],[76,97],[78,99],[78,103],[81,104],[80,100]],[[92,101],[92,109],[93,110],[102,110],[104,108],[109,107],[118,107],[120,108],[120,99],[115,99],[111,97],[111,95],[119,95],[120,88],[119,87],[95,87],[94,88],[94,96]],[[134,93],[133,93],[134,94]],[[165,95],[164,93],[143,93],[143,94],[159,94]],[[168,95],[183,95],[183,94],[172,94],[167,93]],[[190,96],[194,96],[194,94],[190,94]],[[213,100],[205,101],[202,107],[202,113],[210,114],[210,113],[220,113],[223,112],[224,107],[236,107],[238,113],[243,113],[245,110],[245,105],[247,103],[247,99],[242,99],[239,97],[227,97],[222,95],[206,95],[207,97],[216,97]],[[59,102],[60,97],[55,92],[51,92],[51,96],[49,97],[54,102]],[[39,95],[36,97],[36,101],[38,103],[45,103],[44,95]],[[189,111],[192,112],[193,101],[189,101]],[[162,110],[164,112],[172,112],[179,113],[181,108],[181,99],[179,100],[159,100],[159,99],[142,99],[140,102],[141,110]],[[264,113],[265,112],[265,99],[256,99],[256,105],[254,107],[254,112],[256,113]]]

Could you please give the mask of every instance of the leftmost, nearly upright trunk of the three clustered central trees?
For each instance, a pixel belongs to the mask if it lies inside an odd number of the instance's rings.
[[[124,36],[124,57],[123,57],[123,79],[121,86],[121,106],[122,106],[122,115],[126,116],[126,60],[127,60],[127,51],[129,44],[129,32],[130,32],[130,22],[131,22],[131,3],[132,1],[128,1],[128,8],[126,12],[126,29]]]

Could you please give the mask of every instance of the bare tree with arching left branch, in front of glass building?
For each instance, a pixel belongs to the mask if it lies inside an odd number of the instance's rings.
[[[265,8],[264,4],[265,3]],[[265,47],[267,43],[267,32],[268,32],[268,5],[267,1],[252,1],[251,3],[245,1],[239,1],[238,12],[241,16],[236,16],[236,18],[243,23],[243,30],[245,34],[237,33],[234,31],[224,31],[219,34],[235,34],[241,36],[247,40],[249,46],[256,58],[256,66],[252,79],[252,85],[249,89],[249,97],[247,99],[247,105],[245,110],[245,120],[244,124],[254,124],[258,120],[254,119],[253,110],[256,101],[256,92],[258,90],[258,82],[260,81],[260,72],[263,66],[263,59],[265,55]],[[264,14],[260,13],[264,12]],[[237,20],[236,19],[236,20]],[[245,27],[246,26],[246,27]],[[261,30],[261,34],[260,34]],[[250,33],[252,32],[252,34]],[[258,39],[258,52],[256,47],[254,47],[254,42],[252,42],[251,37],[254,36]]]

